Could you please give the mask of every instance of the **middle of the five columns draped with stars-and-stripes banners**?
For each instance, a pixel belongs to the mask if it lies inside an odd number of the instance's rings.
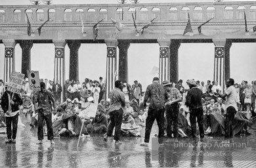
[[[115,81],[117,80],[117,59],[116,59],[116,39],[106,39],[107,45],[107,60],[106,60],[106,98],[109,93],[115,87]]]

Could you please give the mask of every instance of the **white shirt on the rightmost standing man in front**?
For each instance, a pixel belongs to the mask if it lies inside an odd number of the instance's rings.
[[[236,88],[234,86],[228,87],[225,91],[226,95],[226,109],[230,106],[234,107],[236,111],[238,111],[238,106],[236,106],[237,98],[236,98]]]

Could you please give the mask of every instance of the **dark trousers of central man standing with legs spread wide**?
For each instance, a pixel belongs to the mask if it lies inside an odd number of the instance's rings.
[[[158,142],[160,144],[163,143],[163,134],[164,134],[164,114],[165,114],[165,108],[162,109],[148,109],[148,117],[146,117],[146,129],[145,129],[145,139],[144,142],[149,142],[150,140],[150,133],[152,129],[152,125],[156,119],[158,122]]]

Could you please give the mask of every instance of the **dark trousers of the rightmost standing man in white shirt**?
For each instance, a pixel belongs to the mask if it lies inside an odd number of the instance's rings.
[[[225,119],[225,138],[233,137],[233,120],[236,114],[236,109],[232,106],[226,109],[226,119]]]

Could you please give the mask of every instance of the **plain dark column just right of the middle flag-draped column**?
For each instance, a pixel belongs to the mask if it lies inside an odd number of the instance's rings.
[[[119,49],[118,79],[128,82],[128,49],[130,43],[127,41],[119,41],[117,46]]]

